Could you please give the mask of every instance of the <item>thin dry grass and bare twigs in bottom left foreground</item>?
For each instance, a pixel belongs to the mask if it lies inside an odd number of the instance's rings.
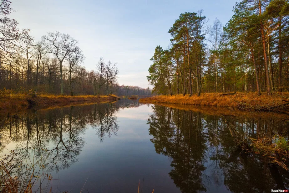
[[[43,149],[43,151],[45,151]],[[46,160],[49,153],[41,156],[35,155],[23,159],[23,149],[16,149],[7,157],[0,160],[0,192],[9,193],[32,193],[33,187],[36,192],[52,192],[51,166],[49,167]],[[35,186],[36,185],[36,186]]]

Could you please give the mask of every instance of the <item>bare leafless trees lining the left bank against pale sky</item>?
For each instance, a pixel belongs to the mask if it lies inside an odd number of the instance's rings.
[[[11,2],[0,3],[0,90],[61,95],[130,92],[150,95],[148,88],[119,86],[116,63],[100,58],[95,70],[85,69],[84,54],[78,41],[69,34],[48,32],[34,42],[30,29],[18,29],[18,22],[8,17],[13,10]]]

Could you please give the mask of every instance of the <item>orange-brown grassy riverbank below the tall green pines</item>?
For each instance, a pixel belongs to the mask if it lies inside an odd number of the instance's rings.
[[[255,92],[250,93],[203,93],[197,95],[173,95],[153,96],[139,99],[141,103],[171,103],[187,105],[205,105],[217,107],[229,107],[230,109],[250,111],[289,111],[289,92],[262,93],[258,96]]]

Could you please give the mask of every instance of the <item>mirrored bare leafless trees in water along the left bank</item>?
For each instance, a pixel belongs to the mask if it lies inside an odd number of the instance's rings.
[[[25,186],[30,177],[27,180],[24,175],[31,176],[32,173],[28,174],[27,171],[32,165],[38,164],[43,175],[70,167],[78,161],[85,144],[81,136],[88,127],[96,130],[102,142],[107,136],[117,135],[119,126],[115,114],[120,108],[140,105],[122,100],[117,103],[30,110],[17,118],[2,117],[1,150],[7,153],[7,145],[14,144],[9,146],[14,148],[14,152],[2,156],[2,163],[7,166],[8,172],[2,172],[0,179],[13,174],[18,179],[22,177],[21,183]]]

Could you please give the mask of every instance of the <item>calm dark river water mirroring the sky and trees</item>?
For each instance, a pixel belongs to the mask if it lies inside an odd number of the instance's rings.
[[[229,116],[119,100],[4,117],[0,144],[2,158],[17,152],[9,159],[14,174],[23,175],[32,162],[43,166],[35,176],[52,176],[34,177],[34,191],[41,180],[42,191],[53,192],[138,192],[139,183],[143,193],[288,188],[286,171],[236,148],[225,120],[252,138],[289,136],[284,115]]]

